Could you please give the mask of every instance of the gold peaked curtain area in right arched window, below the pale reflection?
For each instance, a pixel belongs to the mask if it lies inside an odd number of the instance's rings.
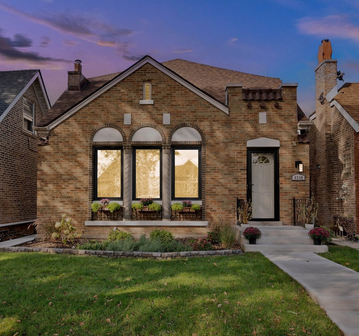
[[[198,157],[198,151],[196,151]],[[183,165],[174,168],[174,197],[198,197],[198,167],[187,160]]]

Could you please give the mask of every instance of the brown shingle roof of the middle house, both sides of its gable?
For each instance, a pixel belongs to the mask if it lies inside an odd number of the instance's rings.
[[[162,64],[223,104],[225,103],[225,87],[227,84],[242,83],[243,88],[252,89],[259,87],[278,89],[282,83],[279,78],[251,75],[181,59],[163,62]],[[119,74],[121,72],[89,78],[88,83],[81,91],[66,90],[37,126],[48,125]]]

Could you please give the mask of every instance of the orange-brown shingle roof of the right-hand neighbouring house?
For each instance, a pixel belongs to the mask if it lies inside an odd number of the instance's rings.
[[[333,100],[336,100],[359,124],[359,83],[345,83]]]

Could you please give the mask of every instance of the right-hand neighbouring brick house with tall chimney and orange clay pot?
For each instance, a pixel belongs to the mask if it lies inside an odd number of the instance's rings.
[[[316,111],[309,134],[311,194],[319,203],[318,221],[332,226],[334,216],[354,218],[359,213],[359,83],[337,85],[341,78],[332,48],[323,40],[316,74]],[[339,87],[339,88],[338,88]],[[342,185],[348,200],[336,199]],[[356,229],[358,232],[358,229]]]

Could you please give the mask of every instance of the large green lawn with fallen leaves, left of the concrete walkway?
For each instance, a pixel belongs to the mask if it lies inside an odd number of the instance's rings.
[[[341,333],[257,253],[188,260],[0,253],[0,264],[0,335]]]

